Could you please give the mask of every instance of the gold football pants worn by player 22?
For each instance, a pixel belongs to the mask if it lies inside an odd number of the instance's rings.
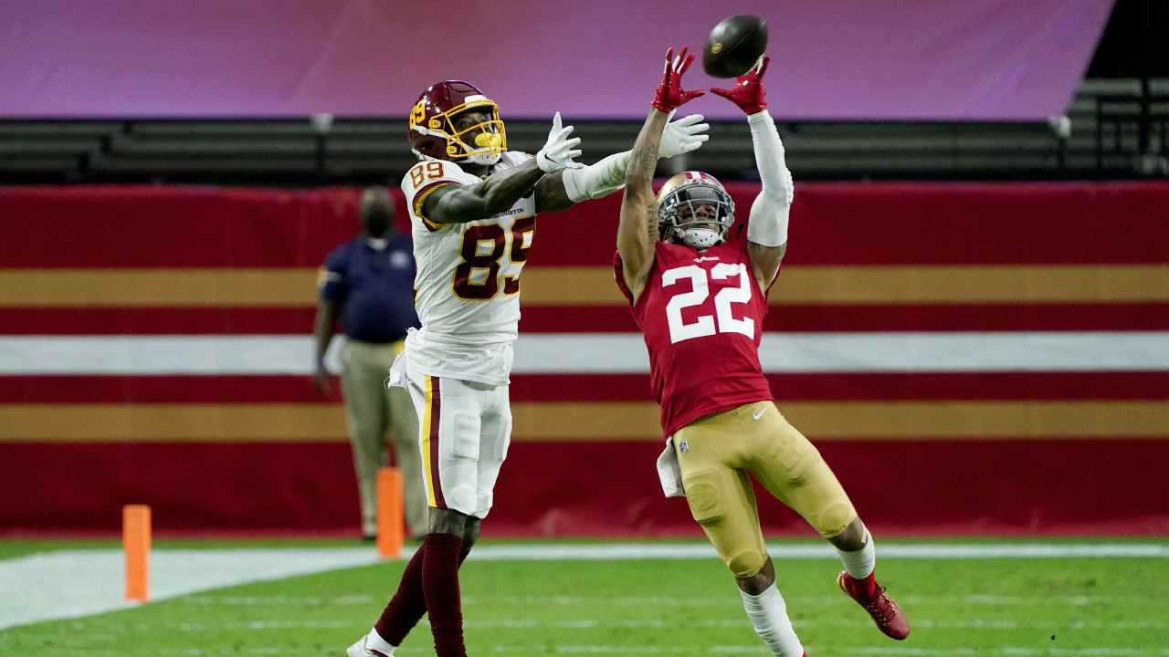
[[[824,538],[857,519],[819,451],[770,401],[696,420],[672,442],[690,511],[736,578],[755,575],[767,560],[748,472]]]

